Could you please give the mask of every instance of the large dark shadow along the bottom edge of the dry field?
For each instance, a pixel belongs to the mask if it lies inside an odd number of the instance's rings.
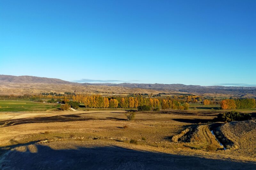
[[[54,150],[34,144],[37,152],[9,151],[0,169],[255,169],[255,162],[206,159],[144,152],[117,146]]]

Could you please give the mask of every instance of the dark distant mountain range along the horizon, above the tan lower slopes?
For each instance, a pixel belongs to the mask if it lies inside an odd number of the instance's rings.
[[[140,89],[152,89],[163,92],[187,92],[187,93],[198,93],[198,94],[227,94],[238,97],[256,97],[256,87],[244,87],[244,86],[200,86],[200,85],[183,85],[183,84],[139,84],[139,83],[74,83],[64,81],[57,78],[42,78],[35,76],[9,76],[0,75],[0,83],[41,83],[41,84],[72,84],[72,85],[95,85],[95,86],[118,86],[118,87],[129,87],[129,88],[140,88]],[[96,88],[96,87],[95,87]]]

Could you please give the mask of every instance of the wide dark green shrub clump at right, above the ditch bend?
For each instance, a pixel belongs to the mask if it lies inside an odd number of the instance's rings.
[[[215,122],[232,122],[232,121],[246,121],[251,120],[252,116],[248,113],[240,114],[237,111],[231,111],[227,113],[219,113],[217,117],[213,119]]]

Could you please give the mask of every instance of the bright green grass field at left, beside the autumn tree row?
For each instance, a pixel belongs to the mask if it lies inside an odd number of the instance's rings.
[[[24,112],[24,111],[46,111],[48,109],[58,108],[60,104],[36,103],[28,101],[0,101],[0,112]]]

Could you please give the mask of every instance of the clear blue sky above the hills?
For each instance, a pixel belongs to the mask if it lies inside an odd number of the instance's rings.
[[[0,1],[0,74],[255,85],[255,70],[255,0]]]

